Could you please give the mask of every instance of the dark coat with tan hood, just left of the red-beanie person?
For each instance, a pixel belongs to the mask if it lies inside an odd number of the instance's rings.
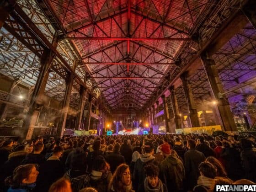
[[[138,190],[139,184],[144,182],[146,174],[144,171],[144,166],[148,163],[153,163],[155,157],[149,153],[140,155],[139,159],[136,161],[134,170],[133,170],[133,189]]]

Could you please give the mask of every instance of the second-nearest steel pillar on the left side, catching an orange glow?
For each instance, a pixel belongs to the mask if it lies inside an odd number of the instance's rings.
[[[56,134],[57,138],[63,137],[64,129],[66,127],[66,120],[69,112],[69,101],[70,101],[71,91],[73,87],[73,80],[74,80],[73,74],[69,73],[68,78],[66,80],[66,90],[65,90],[65,95],[64,95],[63,104],[62,104],[60,123],[59,123],[59,127]]]

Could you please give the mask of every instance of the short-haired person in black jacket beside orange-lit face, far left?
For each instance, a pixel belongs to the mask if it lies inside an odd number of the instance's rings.
[[[41,163],[44,162],[44,155],[41,154],[43,151],[43,143],[38,142],[33,146],[33,153],[29,153],[26,155],[26,158],[22,161],[22,164],[38,164],[41,165]]]

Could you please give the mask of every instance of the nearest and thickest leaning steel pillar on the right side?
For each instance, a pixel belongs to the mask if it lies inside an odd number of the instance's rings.
[[[215,65],[215,61],[212,58],[207,57],[207,53],[200,55],[205,73],[207,75],[209,84],[211,86],[214,99],[217,101],[219,115],[221,117],[221,123],[224,131],[236,131],[236,125],[233,114],[229,107],[229,102],[226,96],[220,95],[223,93],[223,86],[219,79],[219,74]]]

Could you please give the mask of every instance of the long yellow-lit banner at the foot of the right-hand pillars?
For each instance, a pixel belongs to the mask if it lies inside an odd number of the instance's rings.
[[[194,127],[194,128],[178,128],[176,129],[176,134],[188,134],[188,133],[207,133],[212,134],[213,131],[222,131],[220,125],[213,125],[213,126],[203,126],[203,127]]]

